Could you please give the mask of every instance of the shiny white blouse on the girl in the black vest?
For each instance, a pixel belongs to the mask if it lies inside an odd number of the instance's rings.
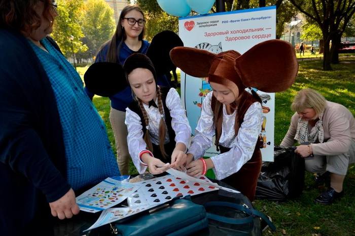
[[[155,103],[158,104],[157,99]],[[175,142],[183,143],[187,147],[189,138],[191,137],[191,128],[186,117],[186,111],[181,105],[179,93],[177,93],[175,89],[171,88],[169,90],[166,95],[165,104],[170,111],[171,128],[175,132]],[[161,118],[159,109],[154,106],[149,107],[149,105],[144,103],[143,106],[149,117],[148,130],[151,136],[151,141],[152,143],[159,145],[159,123]],[[144,173],[147,166],[144,166],[139,160],[139,153],[147,149],[146,142],[143,138],[142,121],[140,120],[139,115],[128,107],[126,108],[125,124],[128,130],[127,143],[129,154],[139,174]],[[168,142],[169,136],[166,131],[165,143]]]

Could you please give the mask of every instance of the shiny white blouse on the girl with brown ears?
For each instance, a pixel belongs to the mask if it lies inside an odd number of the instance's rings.
[[[202,104],[201,117],[198,121],[195,137],[187,153],[191,153],[197,160],[212,145],[215,135],[213,112],[211,109],[212,93],[209,92]],[[231,148],[229,151],[212,156],[214,172],[218,180],[224,179],[240,170],[252,158],[256,142],[261,131],[262,108],[259,102],[253,103],[245,112],[244,122],[241,124],[238,135],[235,137],[234,123],[236,111],[227,114],[223,105],[223,124],[220,145]]]

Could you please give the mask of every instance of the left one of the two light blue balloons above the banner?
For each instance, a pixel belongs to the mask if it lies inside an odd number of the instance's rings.
[[[157,2],[164,12],[173,16],[187,16],[191,12],[186,0],[157,0]]]

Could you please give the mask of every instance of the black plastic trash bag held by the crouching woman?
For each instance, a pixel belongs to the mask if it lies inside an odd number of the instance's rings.
[[[304,187],[304,159],[296,147],[274,147],[274,162],[264,162],[258,179],[256,198],[283,202],[297,198]]]

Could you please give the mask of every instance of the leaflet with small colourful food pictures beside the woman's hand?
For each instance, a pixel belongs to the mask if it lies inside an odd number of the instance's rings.
[[[139,185],[107,178],[76,198],[82,211],[98,212],[123,202]]]

